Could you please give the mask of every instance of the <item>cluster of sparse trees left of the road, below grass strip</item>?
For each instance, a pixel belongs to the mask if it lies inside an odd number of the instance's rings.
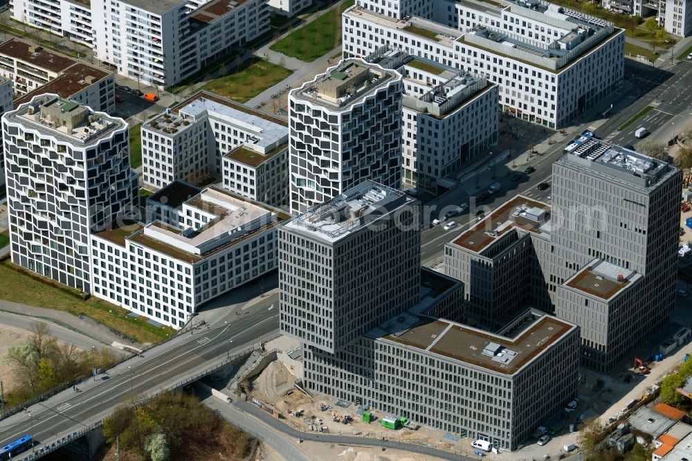
[[[6,395],[8,406],[91,374],[91,351],[80,350],[69,343],[59,343],[51,329],[42,322],[30,325],[30,336],[21,345],[12,346],[3,363],[12,366],[16,385]],[[110,348],[93,350],[96,368],[109,368],[120,356]]]

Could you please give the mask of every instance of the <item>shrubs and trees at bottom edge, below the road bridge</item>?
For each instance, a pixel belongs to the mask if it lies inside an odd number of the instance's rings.
[[[119,406],[104,420],[103,435],[110,444],[118,439],[120,461],[244,460],[255,444],[252,435],[183,392]]]

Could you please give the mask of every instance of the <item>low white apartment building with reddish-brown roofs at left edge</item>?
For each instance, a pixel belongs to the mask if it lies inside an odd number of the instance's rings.
[[[12,82],[17,104],[38,94],[55,93],[95,111],[116,109],[113,73],[21,40],[0,44],[0,75]]]

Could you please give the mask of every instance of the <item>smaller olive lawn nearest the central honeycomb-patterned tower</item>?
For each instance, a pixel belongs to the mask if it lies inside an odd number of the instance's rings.
[[[293,71],[268,61],[246,61],[240,71],[215,78],[201,89],[238,102],[246,102],[291,73]]]

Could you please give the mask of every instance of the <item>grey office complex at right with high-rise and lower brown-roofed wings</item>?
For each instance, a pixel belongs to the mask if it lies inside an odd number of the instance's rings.
[[[446,244],[467,316],[496,328],[527,303],[554,312],[581,327],[583,365],[612,369],[675,305],[681,181],[666,162],[574,141],[553,165],[552,206],[514,197]]]

